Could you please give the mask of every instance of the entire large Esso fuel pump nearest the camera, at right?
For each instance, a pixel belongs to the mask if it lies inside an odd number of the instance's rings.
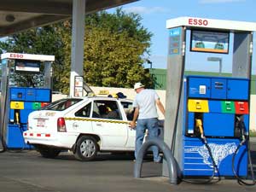
[[[183,178],[246,178],[256,23],[180,17],[167,20],[166,27],[165,142],[172,148]],[[184,68],[189,63],[186,56],[191,52],[198,58],[202,54],[231,55],[231,77],[185,76]],[[164,161],[164,176],[166,170]]]

